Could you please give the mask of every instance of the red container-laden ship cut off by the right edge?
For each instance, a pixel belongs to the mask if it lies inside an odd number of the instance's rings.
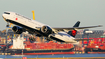
[[[86,53],[105,53],[105,38],[94,38],[85,47]]]

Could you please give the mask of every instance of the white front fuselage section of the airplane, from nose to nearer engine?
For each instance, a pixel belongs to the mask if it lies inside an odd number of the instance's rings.
[[[37,29],[37,27],[42,27],[45,25],[45,24],[42,24],[42,23],[35,21],[33,19],[29,19],[25,16],[22,16],[20,14],[17,14],[14,12],[9,12],[9,13],[10,13],[9,15],[3,14],[3,17],[5,17],[6,19],[9,19],[11,21],[23,24],[23,25],[28,26],[33,29]]]

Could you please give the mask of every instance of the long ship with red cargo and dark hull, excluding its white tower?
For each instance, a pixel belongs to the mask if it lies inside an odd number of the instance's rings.
[[[49,43],[24,42],[24,49],[13,49],[13,45],[5,53],[10,55],[45,55],[45,54],[74,54],[72,44],[58,44],[50,41]]]

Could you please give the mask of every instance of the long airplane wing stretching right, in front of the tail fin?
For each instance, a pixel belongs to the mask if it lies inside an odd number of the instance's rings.
[[[87,26],[87,27],[71,27],[71,28],[53,28],[58,31],[64,31],[64,30],[79,30],[79,29],[86,29],[86,28],[95,28],[95,27],[102,27],[101,25],[98,26]]]

